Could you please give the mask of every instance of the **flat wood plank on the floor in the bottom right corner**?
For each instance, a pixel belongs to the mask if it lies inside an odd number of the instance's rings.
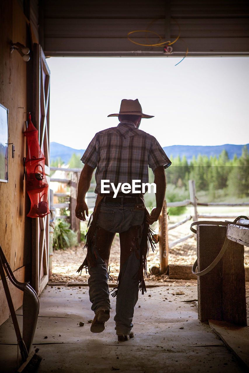
[[[210,327],[225,345],[249,368],[249,327],[242,327],[224,321],[208,320]]]

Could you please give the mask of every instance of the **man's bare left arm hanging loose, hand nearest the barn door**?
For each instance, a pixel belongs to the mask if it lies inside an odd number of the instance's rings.
[[[93,171],[94,171],[93,167],[90,167],[87,164],[85,164],[80,174],[75,215],[78,219],[83,220],[83,221],[86,220],[86,216],[88,216],[88,207],[85,202],[85,197],[86,197],[86,192],[90,188]],[[85,212],[86,212],[86,216],[85,216]]]

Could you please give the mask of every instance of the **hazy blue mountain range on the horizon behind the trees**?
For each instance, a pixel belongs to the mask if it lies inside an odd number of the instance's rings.
[[[245,145],[233,145],[233,144],[225,144],[225,145],[216,145],[216,146],[199,146],[199,145],[172,145],[172,146],[165,146],[163,150],[167,154],[168,157],[173,156],[177,157],[178,155],[182,158],[186,156],[187,160],[190,161],[193,156],[198,157],[199,154],[202,156],[206,155],[207,157],[210,156],[219,156],[222,150],[225,149],[228,153],[228,157],[233,159],[234,154],[237,157],[240,157],[242,154],[242,148]],[[249,144],[246,145],[249,151]],[[56,160],[57,158],[61,157],[61,159],[68,163],[71,156],[75,153],[79,155],[79,159],[84,154],[84,149],[73,149],[68,146],[58,144],[57,142],[50,142],[50,162],[52,160]]]

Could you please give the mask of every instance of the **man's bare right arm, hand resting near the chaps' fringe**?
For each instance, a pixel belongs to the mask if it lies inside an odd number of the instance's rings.
[[[153,224],[159,218],[163,208],[163,201],[166,191],[166,176],[163,166],[157,167],[154,171],[154,183],[156,184],[156,208],[151,211],[150,216],[147,217],[146,222]]]

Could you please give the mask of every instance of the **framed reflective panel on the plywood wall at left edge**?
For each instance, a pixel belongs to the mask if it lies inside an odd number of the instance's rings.
[[[8,112],[9,109],[0,104],[0,181],[8,182]]]

